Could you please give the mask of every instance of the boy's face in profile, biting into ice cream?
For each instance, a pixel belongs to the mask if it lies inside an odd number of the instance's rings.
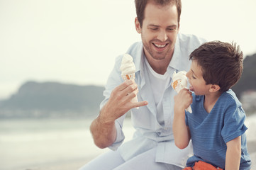
[[[196,95],[206,95],[209,93],[211,84],[206,85],[201,66],[197,64],[196,60],[192,60],[191,67],[186,76],[189,79],[189,90],[194,91]]]

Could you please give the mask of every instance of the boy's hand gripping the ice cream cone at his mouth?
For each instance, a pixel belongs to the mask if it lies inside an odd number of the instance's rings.
[[[192,93],[188,89],[182,89],[179,94],[174,96],[174,107],[184,111],[192,103]]]

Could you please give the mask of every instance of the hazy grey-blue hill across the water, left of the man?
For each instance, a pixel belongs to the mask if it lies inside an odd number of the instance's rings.
[[[78,86],[57,82],[28,81],[16,94],[0,101],[1,117],[89,116],[99,113],[103,86]]]

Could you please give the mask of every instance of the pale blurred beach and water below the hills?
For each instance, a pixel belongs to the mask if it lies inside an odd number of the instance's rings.
[[[0,169],[79,169],[108,149],[94,145],[89,132],[91,120],[0,120]],[[256,169],[256,115],[247,117],[247,147]],[[125,120],[126,140],[134,129]]]

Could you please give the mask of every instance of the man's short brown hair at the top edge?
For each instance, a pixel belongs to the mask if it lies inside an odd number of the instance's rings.
[[[135,7],[137,18],[140,23],[140,27],[143,27],[143,20],[144,20],[144,11],[146,5],[152,1],[153,3],[160,5],[160,6],[167,6],[169,4],[176,4],[177,12],[178,12],[178,23],[180,20],[180,15],[182,13],[182,1],[181,0],[135,0]]]

